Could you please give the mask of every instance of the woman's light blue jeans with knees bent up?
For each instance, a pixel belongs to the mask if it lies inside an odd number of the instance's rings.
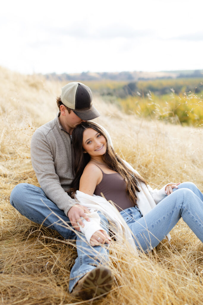
[[[138,249],[156,247],[182,217],[203,242],[203,195],[191,182],[184,182],[142,217],[137,207],[120,212],[131,229]]]

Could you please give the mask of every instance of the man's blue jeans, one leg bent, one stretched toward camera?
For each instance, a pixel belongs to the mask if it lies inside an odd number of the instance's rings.
[[[97,265],[108,264],[108,247],[106,245],[91,247],[82,233],[77,232],[77,235],[75,235],[75,232],[71,230],[69,218],[55,203],[47,198],[41,188],[28,183],[18,184],[11,192],[10,203],[31,221],[58,231],[65,239],[76,238],[78,257],[70,274],[70,292],[78,280],[87,272]],[[106,217],[100,212],[98,213],[101,218],[101,227],[108,232]],[[67,223],[67,226],[57,215]]]

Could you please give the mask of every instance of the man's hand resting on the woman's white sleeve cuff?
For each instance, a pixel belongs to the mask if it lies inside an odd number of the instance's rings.
[[[75,206],[72,206],[72,208],[70,208],[70,210],[68,211],[68,218],[70,219],[70,222],[75,230],[80,231],[78,223],[81,225],[81,227],[84,227],[84,224],[80,217],[85,218],[86,221],[90,221],[90,219],[86,215],[89,213],[90,212],[88,208],[86,208],[85,206],[81,206],[80,204],[75,204]]]

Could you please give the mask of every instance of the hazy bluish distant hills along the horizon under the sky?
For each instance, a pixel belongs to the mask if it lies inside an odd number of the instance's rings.
[[[45,74],[50,80],[60,81],[138,81],[163,78],[180,78],[180,77],[203,77],[203,70],[180,70],[180,71],[160,71],[160,72],[143,72],[143,71],[123,71],[123,72],[82,72],[74,74]]]

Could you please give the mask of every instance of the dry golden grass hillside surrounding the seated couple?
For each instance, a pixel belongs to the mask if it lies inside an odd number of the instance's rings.
[[[0,68],[0,304],[203,304],[203,245],[183,221],[152,253],[121,244],[110,249],[115,284],[106,298],[81,301],[68,293],[74,242],[21,216],[9,203],[21,182],[38,185],[30,161],[34,130],[55,117],[62,83]],[[94,97],[114,148],[153,188],[194,182],[203,192],[203,131],[121,113]]]

